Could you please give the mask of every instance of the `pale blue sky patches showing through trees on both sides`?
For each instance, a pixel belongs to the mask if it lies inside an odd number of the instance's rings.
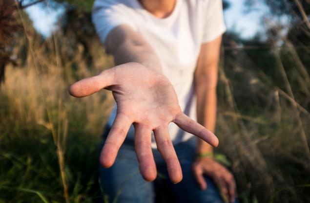
[[[245,12],[245,0],[228,0],[230,7],[224,12],[225,22],[228,30],[239,32],[243,38],[251,38],[262,30],[260,19],[267,11],[264,5],[257,6],[250,13]],[[56,22],[63,13],[63,8],[57,10],[42,8],[40,4],[30,6],[26,9],[34,27],[44,36],[48,37],[57,28]]]

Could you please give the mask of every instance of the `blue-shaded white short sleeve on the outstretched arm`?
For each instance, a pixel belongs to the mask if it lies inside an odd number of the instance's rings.
[[[119,0],[95,0],[92,8],[92,22],[103,45],[109,32],[118,25],[126,24],[137,30],[128,18],[128,9]]]

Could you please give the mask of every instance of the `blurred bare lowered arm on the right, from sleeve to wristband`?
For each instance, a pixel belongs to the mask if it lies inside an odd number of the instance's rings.
[[[202,45],[194,80],[197,96],[197,121],[213,133],[216,122],[216,86],[221,42],[220,36]],[[212,147],[198,140],[197,153],[207,152],[212,152]]]

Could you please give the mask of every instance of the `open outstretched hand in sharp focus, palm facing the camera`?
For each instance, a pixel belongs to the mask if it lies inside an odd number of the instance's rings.
[[[157,176],[151,149],[151,131],[174,183],[182,180],[182,171],[168,133],[170,122],[213,146],[218,145],[215,135],[182,113],[171,83],[162,74],[138,63],[127,63],[78,81],[69,91],[73,96],[84,97],[103,88],[112,91],[117,104],[117,116],[100,156],[103,167],[113,165],[131,124],[135,127],[139,169],[148,181]]]

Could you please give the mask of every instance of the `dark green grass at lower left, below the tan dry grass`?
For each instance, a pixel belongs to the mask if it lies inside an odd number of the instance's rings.
[[[46,129],[17,131],[25,134],[9,133],[12,138],[1,141],[0,200],[62,202],[62,181],[51,134]],[[66,181],[72,202],[93,202],[99,198],[98,173],[94,170],[98,166],[99,140],[78,133],[69,133],[70,147],[65,157]],[[5,131],[1,130],[1,136],[4,134]]]

